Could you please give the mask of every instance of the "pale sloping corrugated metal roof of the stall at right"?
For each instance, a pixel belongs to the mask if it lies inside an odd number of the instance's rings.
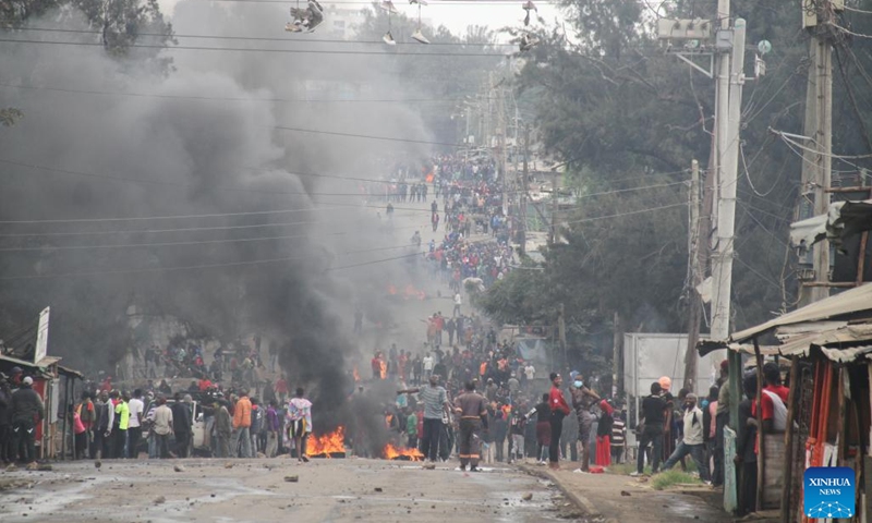
[[[872,311],[872,285],[870,284],[850,289],[825,300],[821,300],[820,302],[798,308],[791,313],[778,316],[765,324],[736,332],[730,336],[729,341],[742,343],[782,326],[836,319],[865,311]]]

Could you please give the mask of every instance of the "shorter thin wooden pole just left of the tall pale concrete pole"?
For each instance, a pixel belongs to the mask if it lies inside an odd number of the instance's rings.
[[[702,283],[700,264],[700,162],[690,163],[690,195],[688,211],[688,272],[690,290],[688,292],[688,348],[685,352],[683,388],[697,389],[697,342],[700,340],[700,323],[702,320],[702,297],[697,291]]]

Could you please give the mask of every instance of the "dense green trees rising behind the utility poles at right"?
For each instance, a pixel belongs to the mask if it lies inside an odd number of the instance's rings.
[[[659,14],[670,17],[715,16],[714,2],[661,5]],[[872,2],[856,7],[861,5]],[[691,159],[708,165],[713,82],[664,53],[643,2],[572,0],[565,9],[574,44],[562,28],[538,31],[538,45],[521,53],[525,64],[517,88],[535,100],[543,148],[568,166],[565,185],[578,204],[561,212],[566,243],[547,250],[544,271],[512,272],[481,303],[495,318],[535,321],[524,304],[559,300],[568,331],[573,330],[570,318],[579,318],[577,330],[583,332],[585,323],[607,326],[615,311],[629,330],[682,331],[685,296],[692,292],[686,281],[682,182]],[[808,35],[789,2],[737,0],[732,9],[749,22],[749,46],[762,39],[774,46],[764,57],[767,75],[749,77],[744,86],[734,269],[737,329],[787,309],[797,294],[787,226],[801,188],[802,159],[770,129],[802,132]],[[841,16],[845,26],[855,24],[852,32],[872,34],[872,17]],[[838,153],[856,157],[872,148],[870,48],[867,38],[846,39],[834,60],[834,122],[850,124],[834,126],[833,143]],[[750,63],[747,71],[751,76]],[[859,168],[872,163],[869,158],[834,161],[846,177],[861,175]],[[581,335],[576,343],[594,348],[591,338]]]

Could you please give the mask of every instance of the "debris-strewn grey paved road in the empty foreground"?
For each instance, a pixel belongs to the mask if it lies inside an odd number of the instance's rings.
[[[183,471],[174,472],[175,464]],[[568,515],[548,482],[514,469],[464,474],[455,466],[426,471],[364,459],[298,465],[277,458],[105,461],[97,471],[93,462],[60,463],[52,472],[0,473],[0,485],[31,484],[0,491],[0,521],[481,523]],[[290,475],[299,482],[286,482]]]

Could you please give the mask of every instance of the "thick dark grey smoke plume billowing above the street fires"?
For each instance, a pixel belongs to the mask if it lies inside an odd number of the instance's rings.
[[[171,19],[179,39],[204,47],[337,49],[181,36],[286,35],[286,5],[233,5],[180,3]],[[31,25],[61,26],[63,20],[64,28],[87,29],[70,16],[51,13]],[[95,35],[44,36],[98,41]],[[367,294],[404,266],[325,269],[404,254],[375,250],[408,243],[411,231],[380,233],[376,209],[355,207],[360,198],[348,196],[359,183],[318,174],[377,178],[377,166],[428,150],[276,127],[427,135],[414,110],[398,104],[279,100],[313,93],[331,98],[349,88],[402,98],[407,94],[383,80],[391,59],[177,49],[160,52],[173,59],[174,70],[164,73],[143,58],[107,57],[99,46],[3,46],[0,106],[16,107],[24,118],[0,129],[0,247],[39,250],[0,257],[2,331],[34,321],[51,305],[50,352],[85,370],[109,368],[126,350],[124,312],[136,304],[217,338],[264,332],[282,346],[292,385],[311,388],[318,404],[329,405],[322,413],[341,405],[352,388],[346,361],[359,349],[350,338],[354,307],[365,303],[378,314]],[[112,94],[119,92],[135,96]],[[275,212],[73,221],[264,210]],[[21,220],[59,221],[10,223]],[[268,223],[281,226],[259,227]],[[228,226],[237,229],[178,231]],[[143,232],[155,230],[177,231]],[[249,241],[255,238],[272,240]],[[172,245],[133,246],[143,243]]]

